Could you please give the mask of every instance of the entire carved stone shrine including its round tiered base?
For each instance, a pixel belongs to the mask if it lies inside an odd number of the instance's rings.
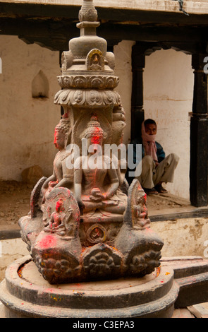
[[[125,179],[125,111],[92,0],[79,20],[80,37],[62,53],[53,174],[18,221],[30,256],[8,267],[1,302],[11,317],[170,317],[179,286],[160,266],[145,192]]]

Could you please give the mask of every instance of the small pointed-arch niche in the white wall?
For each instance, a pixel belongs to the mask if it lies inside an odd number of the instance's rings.
[[[32,80],[32,97],[48,98],[49,97],[49,81],[42,70],[37,73]]]

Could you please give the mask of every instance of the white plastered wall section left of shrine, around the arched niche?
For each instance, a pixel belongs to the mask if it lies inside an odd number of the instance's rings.
[[[20,181],[21,172],[33,165],[49,176],[56,154],[54,127],[61,116],[54,105],[60,89],[59,52],[1,35],[0,57],[0,179]],[[49,82],[48,98],[32,97],[32,80],[40,70]]]

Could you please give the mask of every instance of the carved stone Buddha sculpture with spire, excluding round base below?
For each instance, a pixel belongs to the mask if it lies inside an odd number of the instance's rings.
[[[135,179],[128,188],[125,160],[104,154],[106,144],[122,144],[125,112],[114,90],[114,54],[96,35],[92,0],[83,1],[79,19],[80,37],[62,54],[54,101],[64,109],[54,134],[54,172],[37,182],[31,211],[18,222],[32,260],[51,284],[140,277],[160,265],[163,247],[150,228],[140,183]]]

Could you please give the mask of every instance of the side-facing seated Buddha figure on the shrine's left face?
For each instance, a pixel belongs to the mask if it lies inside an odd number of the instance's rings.
[[[68,170],[65,165],[67,157],[66,143],[68,142],[68,136],[70,136],[70,133],[71,126],[68,117],[61,119],[54,131],[54,146],[59,152],[56,153],[54,158],[53,174],[42,186],[42,203],[44,203],[45,198],[47,198],[47,195],[52,189],[60,186],[71,189],[71,186],[73,186],[73,174],[71,174],[71,170]]]

